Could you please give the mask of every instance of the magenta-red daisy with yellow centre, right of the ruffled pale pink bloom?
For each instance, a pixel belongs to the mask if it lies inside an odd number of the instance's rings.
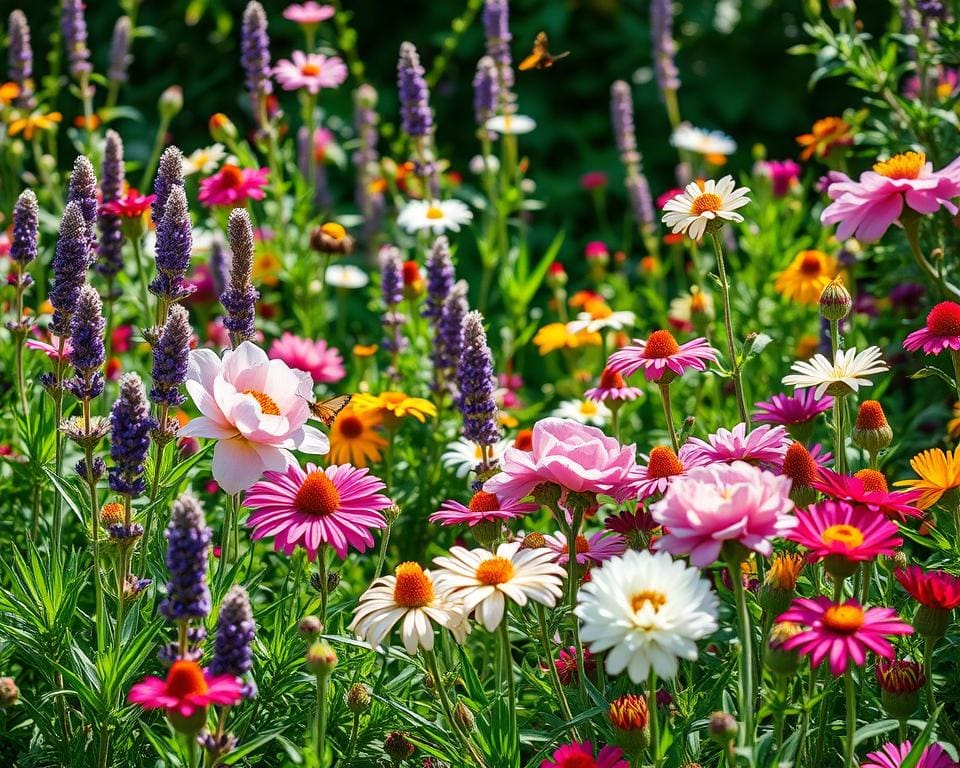
[[[892,555],[903,544],[896,523],[846,501],[821,501],[799,509],[797,521],[787,538],[808,550],[810,562],[827,557],[848,562],[873,560]]]

